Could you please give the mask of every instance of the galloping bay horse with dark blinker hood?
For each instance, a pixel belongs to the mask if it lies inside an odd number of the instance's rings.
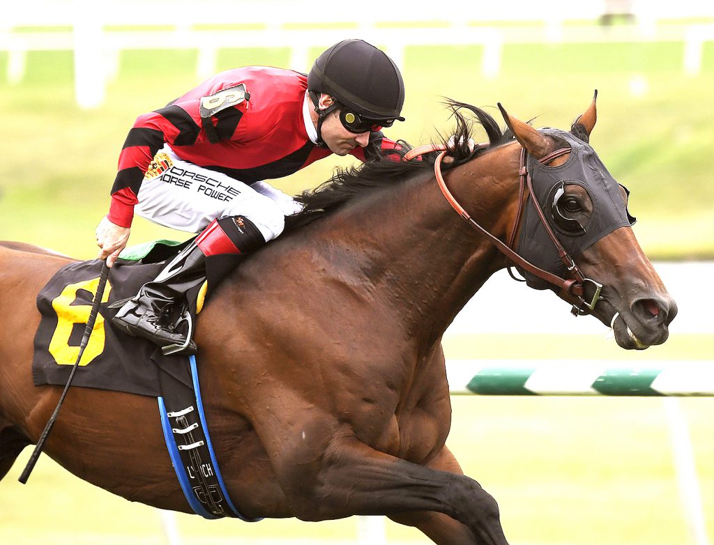
[[[507,544],[495,499],[445,446],[441,337],[513,263],[533,287],[611,325],[620,347],[668,336],[675,302],[588,144],[595,100],[570,132],[536,130],[503,108],[502,132],[480,108],[452,107],[451,163],[438,151],[375,161],[303,193],[286,233],[246,258],[198,317],[206,419],[248,518],[386,515],[437,544]],[[464,108],[488,135],[475,151]],[[35,297],[72,262],[0,245],[0,477],[59,398],[61,387],[31,377]],[[45,452],[126,499],[191,512],[155,399],[71,389]]]

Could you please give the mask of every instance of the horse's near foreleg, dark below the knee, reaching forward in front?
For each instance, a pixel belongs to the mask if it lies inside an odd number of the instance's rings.
[[[406,462],[354,437],[333,439],[319,455],[314,450],[291,449],[291,456],[273,462],[293,515],[299,519],[436,511],[471,531],[462,529],[458,540],[451,539],[446,534],[449,529],[457,531],[458,524],[432,517],[425,527],[436,539],[443,539],[438,543],[508,545],[496,500],[463,475]]]

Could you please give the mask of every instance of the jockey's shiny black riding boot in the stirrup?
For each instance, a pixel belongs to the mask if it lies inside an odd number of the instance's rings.
[[[119,329],[132,337],[149,339],[165,354],[195,354],[196,343],[187,341],[188,302],[186,292],[206,280],[206,255],[192,242],[147,282],[112,318]],[[189,322],[190,323],[190,322]],[[183,347],[183,345],[186,345]]]

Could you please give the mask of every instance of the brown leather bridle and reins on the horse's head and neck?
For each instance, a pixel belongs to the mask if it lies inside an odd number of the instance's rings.
[[[476,230],[478,230],[479,233],[484,235],[494,246],[496,246],[499,251],[501,251],[501,253],[506,255],[506,257],[510,259],[517,267],[525,270],[526,272],[530,272],[532,275],[540,278],[541,280],[545,280],[545,282],[548,282],[558,288],[558,290],[560,291],[560,296],[565,298],[566,300],[569,300],[573,304],[573,308],[570,310],[573,315],[578,316],[588,314],[588,312],[591,312],[595,309],[595,305],[600,299],[600,292],[603,289],[603,285],[583,275],[583,272],[580,270],[580,268],[578,268],[578,265],[575,264],[575,260],[570,257],[568,252],[565,250],[565,248],[563,248],[563,245],[560,243],[560,240],[558,240],[558,237],[556,237],[555,233],[553,233],[553,229],[550,228],[548,220],[545,219],[543,209],[540,207],[538,199],[535,198],[535,192],[533,191],[533,181],[531,180],[531,173],[528,172],[528,166],[526,163],[528,153],[526,152],[525,148],[521,148],[521,166],[518,170],[518,178],[520,180],[518,190],[518,210],[516,212],[516,218],[513,221],[513,228],[511,229],[511,234],[508,237],[508,244],[503,243],[501,239],[493,236],[491,233],[488,232],[488,230],[481,227],[481,225],[479,225],[476,220],[471,218],[471,215],[466,212],[463,206],[458,203],[458,200],[456,200],[456,198],[453,196],[448,187],[446,187],[446,182],[441,173],[441,163],[443,161],[443,158],[446,156],[447,151],[446,146],[444,146],[443,144],[428,144],[426,146],[418,146],[417,148],[413,148],[412,150],[408,151],[408,153],[406,153],[406,155],[404,156],[404,161],[411,161],[411,159],[431,151],[441,152],[436,157],[436,161],[434,161],[434,175],[436,176],[436,183],[438,184],[439,189],[441,190],[441,193],[443,194],[444,198],[446,198],[446,201],[451,205],[451,208],[456,210],[456,213],[458,213],[461,218],[466,220],[466,222],[468,222],[471,227],[475,228]],[[550,163],[550,161],[553,161],[558,157],[564,156],[567,153],[570,153],[570,148],[559,148],[553,151],[552,153],[548,153],[547,156],[540,158],[539,161],[540,163],[548,164]],[[530,263],[529,261],[523,259],[521,255],[518,255],[518,253],[513,250],[516,233],[518,232],[518,225],[521,223],[523,209],[525,208],[526,201],[528,200],[528,198],[524,198],[526,190],[528,190],[528,195],[531,196],[533,206],[535,207],[535,210],[538,213],[540,222],[543,224],[543,227],[548,233],[550,240],[552,240],[553,244],[555,245],[555,248],[558,250],[560,260],[563,261],[563,264],[570,272],[570,275],[572,275],[571,278],[561,278],[558,275],[554,275],[552,272],[548,272],[547,270],[538,268],[533,265],[533,263]],[[586,291],[591,291],[592,295],[587,295]]]

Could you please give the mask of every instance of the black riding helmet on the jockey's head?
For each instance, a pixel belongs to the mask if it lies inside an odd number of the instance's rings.
[[[391,126],[396,120],[404,121],[399,115],[404,104],[399,68],[383,51],[363,40],[343,40],[324,51],[308,75],[308,91],[320,116],[318,137],[324,116],[338,107],[366,124]],[[330,95],[337,104],[320,110],[320,93]]]

